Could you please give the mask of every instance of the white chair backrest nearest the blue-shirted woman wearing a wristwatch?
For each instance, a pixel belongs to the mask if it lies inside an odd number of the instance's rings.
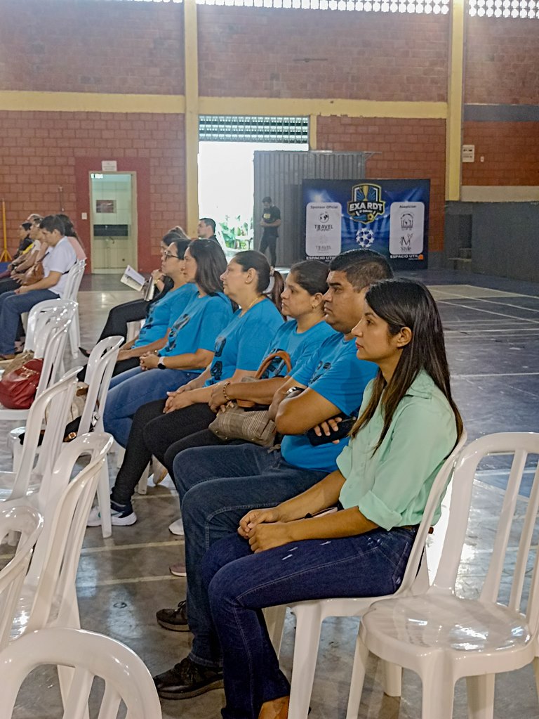
[[[118,359],[118,349],[123,344],[123,337],[112,336],[102,339],[95,345],[86,366],[86,395],[83,415],[80,418],[79,434],[85,434],[93,427],[103,431],[103,412],[107,399],[108,385]]]

